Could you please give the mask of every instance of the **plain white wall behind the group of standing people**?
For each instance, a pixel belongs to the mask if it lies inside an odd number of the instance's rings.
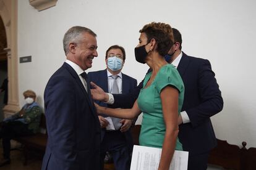
[[[46,83],[66,59],[62,37],[71,26],[87,26],[98,35],[99,56],[87,71],[104,69],[106,49],[119,44],[127,52],[122,71],[140,82],[148,67],[134,59],[139,30],[149,22],[166,22],[181,31],[186,54],[211,61],[224,99],[223,111],[212,118],[216,137],[256,147],[255,6],[253,0],[59,0],[38,12],[19,1],[18,53],[32,55],[31,63],[19,63],[20,105],[27,89],[43,105]]]

